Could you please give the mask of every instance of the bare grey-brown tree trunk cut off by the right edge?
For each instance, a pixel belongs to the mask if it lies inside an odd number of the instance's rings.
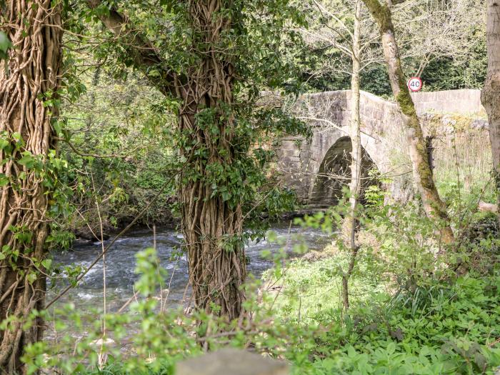
[[[488,114],[496,198],[500,206],[500,3],[488,0],[486,6],[488,75],[481,91],[481,102]]]

